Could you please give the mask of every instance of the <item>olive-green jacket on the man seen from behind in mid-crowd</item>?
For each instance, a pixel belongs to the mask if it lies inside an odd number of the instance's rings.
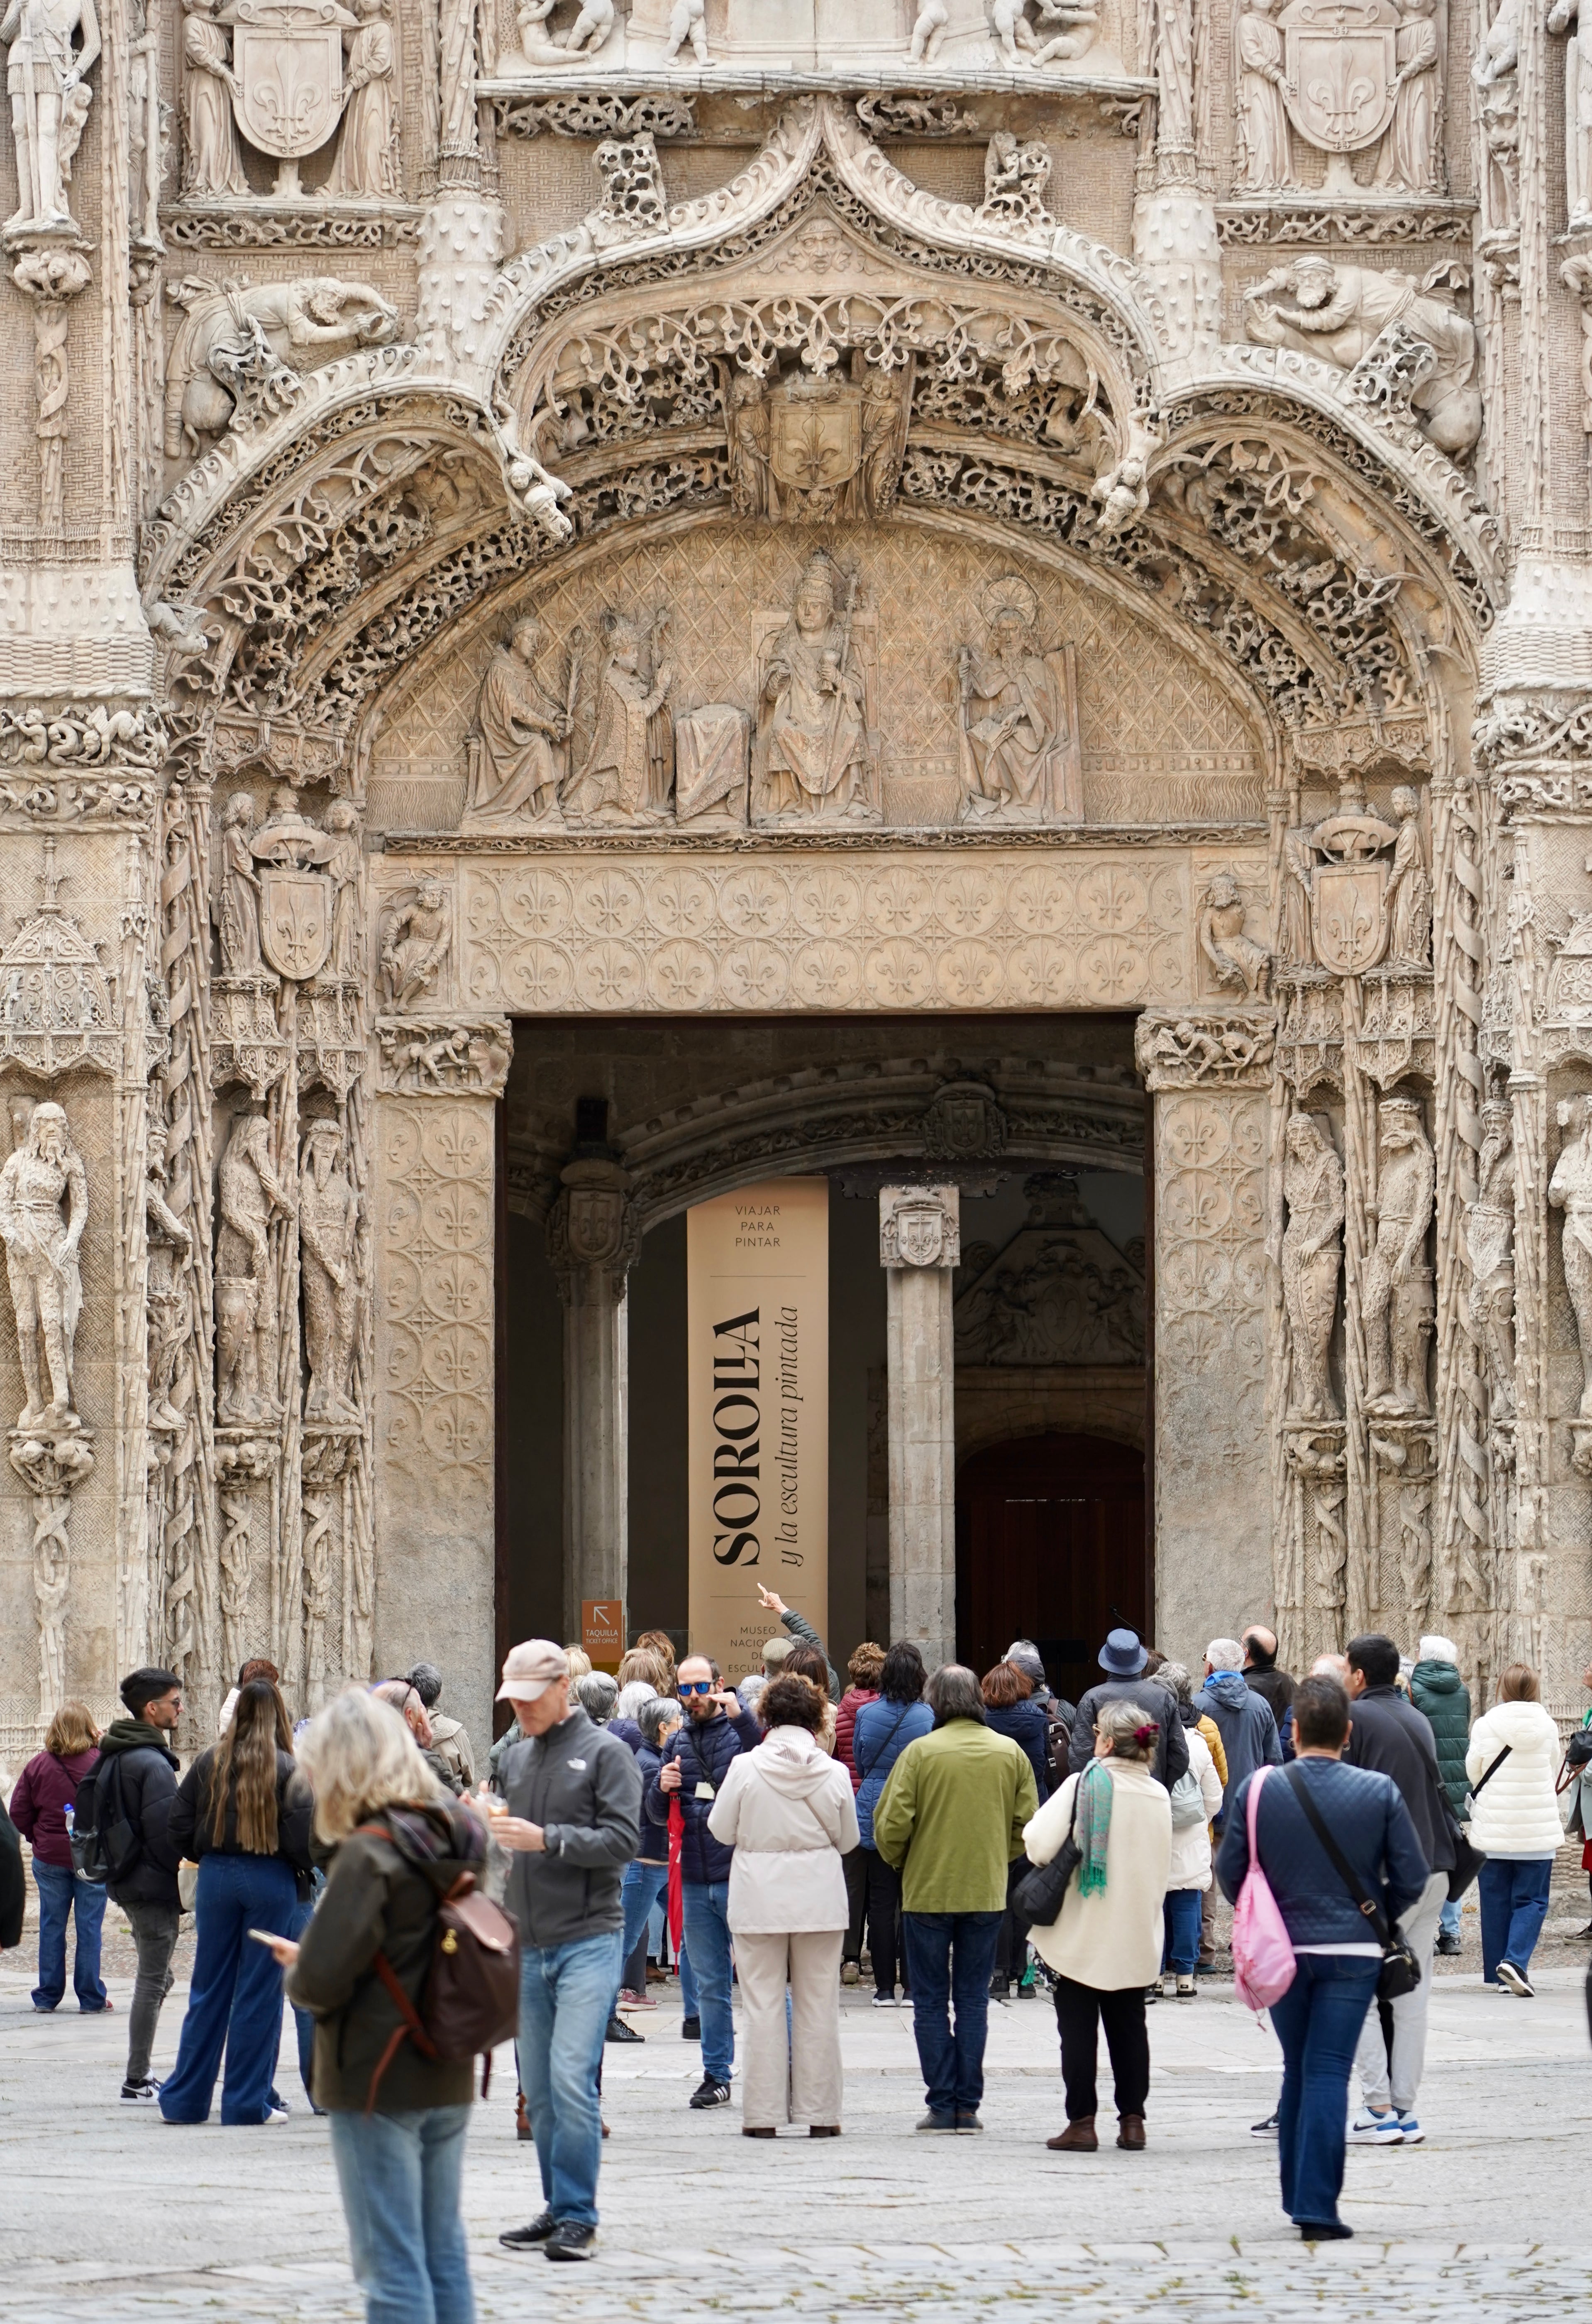
[[[946,1720],[890,1769],[874,1848],[902,1873],[904,1913],[1004,1913],[1006,1866],[1034,1815],[1023,1745],[978,1720]]]

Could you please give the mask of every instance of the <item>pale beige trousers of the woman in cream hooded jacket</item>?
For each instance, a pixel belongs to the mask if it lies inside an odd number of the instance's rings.
[[[737,1936],[741,1980],[741,2124],[841,2119],[844,1929]],[[790,2038],[786,2040],[786,1985]]]

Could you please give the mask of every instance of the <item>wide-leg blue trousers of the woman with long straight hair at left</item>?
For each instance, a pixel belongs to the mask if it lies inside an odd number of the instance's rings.
[[[198,1938],[177,2068],[160,2089],[167,2122],[207,2122],[225,2047],[221,2119],[265,2122],[281,2047],[281,1971],[244,1931],[286,1936],[297,1894],[281,1857],[200,1857]]]

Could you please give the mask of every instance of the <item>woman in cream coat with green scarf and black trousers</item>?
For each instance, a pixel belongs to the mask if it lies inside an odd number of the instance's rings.
[[[1106,1701],[1095,1720],[1095,1759],[1069,1776],[1023,1831],[1030,1864],[1048,1864],[1071,1831],[1081,1864],[1067,1882],[1060,1920],[1030,1929],[1055,1971],[1067,2129],[1048,2138],[1057,2154],[1092,2154],[1095,2059],[1106,2027],[1120,2147],[1143,2147],[1150,2094],[1146,1987],[1160,1975],[1162,1903],[1171,1875],[1171,1801],[1150,1773],[1160,1727],[1134,1701]],[[1074,1815],[1076,1801],[1076,1815]]]

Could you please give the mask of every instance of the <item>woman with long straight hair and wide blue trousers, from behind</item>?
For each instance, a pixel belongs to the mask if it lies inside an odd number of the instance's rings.
[[[198,1945],[177,2071],[160,2087],[167,2122],[205,2122],[225,2047],[223,2124],[286,2122],[272,2103],[281,2045],[281,1968],[251,1929],[288,1936],[309,1889],[309,1792],[277,1685],[237,1690],[232,1722],[193,1762],[172,1801],[170,1845],[198,1857]]]

